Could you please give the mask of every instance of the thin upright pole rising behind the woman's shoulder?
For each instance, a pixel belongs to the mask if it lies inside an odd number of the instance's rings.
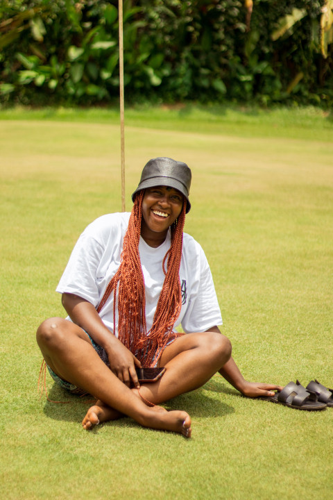
[[[125,212],[125,128],[123,106],[123,0],[119,0],[119,97],[120,97],[120,149],[121,149],[121,211]]]

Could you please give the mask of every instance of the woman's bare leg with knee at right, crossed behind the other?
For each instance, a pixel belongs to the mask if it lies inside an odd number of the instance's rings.
[[[159,404],[205,384],[231,356],[231,345],[220,333],[191,333],[166,347],[160,366],[167,368],[156,383],[143,384],[140,393],[148,401]],[[139,396],[136,389],[132,390]],[[157,407],[160,408],[160,407]],[[83,425],[90,428],[99,422],[118,418],[112,408],[98,401],[89,408]]]

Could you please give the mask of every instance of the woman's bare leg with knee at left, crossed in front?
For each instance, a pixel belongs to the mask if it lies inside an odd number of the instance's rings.
[[[61,318],[47,319],[37,330],[37,342],[46,363],[61,378],[142,426],[191,435],[191,419],[186,412],[157,412],[146,406],[103,363],[76,324]]]

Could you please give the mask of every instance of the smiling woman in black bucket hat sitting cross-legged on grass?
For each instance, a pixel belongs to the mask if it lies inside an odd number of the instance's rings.
[[[278,385],[245,381],[231,357],[210,267],[182,232],[191,171],[154,158],[133,193],[133,210],[99,217],[80,236],[57,291],[67,319],[51,318],[37,342],[54,380],[98,399],[83,419],[90,429],[128,415],[143,426],[191,436],[187,412],[156,406],[205,384],[216,372],[249,397]],[[182,324],[184,333],[177,333]],[[135,367],[165,367],[139,384]]]

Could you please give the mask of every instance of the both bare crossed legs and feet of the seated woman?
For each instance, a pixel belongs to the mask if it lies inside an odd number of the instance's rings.
[[[191,435],[191,419],[183,411],[150,408],[103,363],[85,332],[61,318],[43,322],[37,343],[46,363],[61,378],[93,394],[99,401],[83,420],[85,428],[108,419],[128,415],[139,424]],[[228,339],[214,332],[193,333],[166,347],[160,365],[167,368],[159,381],[142,385],[140,393],[155,404],[203,385],[230,358]]]

